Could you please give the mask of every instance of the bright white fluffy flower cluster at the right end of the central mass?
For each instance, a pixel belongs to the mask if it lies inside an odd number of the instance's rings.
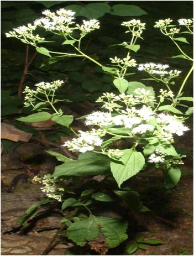
[[[169,134],[170,137],[172,134],[181,136],[184,132],[189,130],[189,128],[184,126],[176,116],[172,117],[169,114],[160,113],[156,119],[159,124],[162,124],[162,129],[166,132],[166,135]]]

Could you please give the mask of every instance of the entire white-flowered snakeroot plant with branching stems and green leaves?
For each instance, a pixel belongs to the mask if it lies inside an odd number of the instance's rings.
[[[129,36],[127,41],[118,45],[126,49],[126,55],[122,57],[117,55],[110,58],[111,64],[109,66],[111,67],[109,67],[103,66],[81,50],[82,38],[88,33],[93,32],[93,30],[100,28],[98,20],[83,20],[81,24],[77,24],[75,12],[64,8],[56,12],[45,10],[43,15],[45,17],[36,19],[33,24],[13,29],[13,32],[6,34],[7,37],[15,37],[22,40],[23,43],[31,44],[35,46],[39,53],[49,57],[51,57],[50,54],[57,54],[58,56],[62,54],[62,56],[87,58],[102,67],[102,70],[113,74],[113,84],[119,91],[119,93],[104,92],[98,98],[96,102],[101,106],[101,110],[94,111],[85,117],[85,130],[78,130],[77,134],[70,128],[76,135],[76,138],[67,140],[62,146],[77,154],[78,159],[71,158],[71,156],[67,158],[59,153],[51,152],[50,154],[55,155],[58,160],[64,163],[56,167],[52,176],[34,178],[35,181],[44,184],[42,190],[49,198],[62,201],[62,210],[69,206],[78,206],[84,207],[90,213],[89,217],[84,220],[76,217],[76,222],[71,223],[71,226],[67,228],[66,236],[74,241],[74,238],[71,237],[71,232],[74,232],[74,228],[76,232],[78,229],[80,230],[80,227],[77,228],[76,225],[81,222],[81,230],[83,229],[83,231],[85,230],[83,227],[87,227],[88,225],[95,228],[94,233],[96,232],[96,237],[92,238],[95,239],[98,237],[99,232],[102,232],[102,229],[100,231],[98,230],[99,227],[106,228],[106,226],[103,226],[104,223],[102,222],[99,223],[100,218],[92,215],[88,205],[93,203],[93,200],[113,201],[110,196],[104,194],[104,191],[109,193],[109,190],[111,190],[116,195],[122,195],[123,191],[128,194],[131,191],[126,190],[126,187],[124,190],[121,188],[123,182],[139,173],[139,171],[145,170],[145,168],[149,169],[153,165],[156,168],[164,170],[165,179],[171,182],[172,187],[176,186],[178,182],[177,177],[181,175],[179,165],[183,164],[182,158],[185,157],[185,154],[178,153],[174,144],[176,141],[175,138],[177,139],[177,137],[184,135],[189,130],[184,122],[190,117],[192,113],[191,108],[188,108],[187,105],[180,104],[180,102],[192,100],[192,97],[182,97],[182,90],[193,70],[193,66],[180,86],[179,92],[176,94],[175,90],[173,90],[175,86],[174,79],[180,79],[181,71],[176,69],[169,70],[170,66],[168,64],[152,62],[138,64],[131,57],[131,51],[137,53],[140,49],[137,40],[143,39],[141,36],[145,30],[145,23],[142,23],[140,20],[132,19],[121,24],[123,27],[127,27],[125,33]],[[175,43],[183,58],[192,61],[192,58],[185,54],[180,45],[177,44],[177,41],[180,41],[180,39],[176,36],[181,33],[182,26],[185,26],[187,32],[192,34],[191,28],[193,21],[191,19],[181,18],[178,22],[181,26],[180,28],[172,25],[171,19],[159,20],[154,27],[159,28],[162,34],[168,36]],[[38,34],[35,34],[37,27],[45,29],[46,32],[48,31],[62,36],[65,40],[63,44],[71,46],[74,50],[73,53],[59,53],[38,47],[37,44],[47,43],[48,41],[44,41],[44,38],[40,38]],[[46,38],[46,36],[44,37]],[[184,43],[186,39],[181,40]],[[154,85],[158,85],[159,83],[161,86],[165,85],[166,90],[160,88],[159,94],[156,95],[151,86],[147,87],[137,81],[128,82],[126,79],[128,75],[127,71],[133,70],[134,68],[146,72],[150,76],[149,80],[153,80]],[[35,89],[27,86],[24,90],[24,105],[31,105],[34,110],[39,111],[38,114],[44,110],[40,106],[43,106],[43,104],[50,105],[55,113],[51,115],[48,112],[43,112],[44,118],[46,115],[47,119],[51,118],[52,121],[69,127],[72,117],[62,115],[61,109],[57,110],[54,107],[56,102],[61,101],[55,99],[55,91],[62,86],[62,83],[63,81],[60,80],[40,82],[35,85]],[[177,109],[176,106],[179,105],[188,109],[186,111]],[[33,120],[34,115],[32,115]],[[38,117],[40,119],[40,116]],[[70,121],[67,122],[66,118],[68,120],[70,118]],[[26,118],[19,118],[18,120],[27,121]],[[117,142],[124,143],[122,146],[117,147]],[[86,187],[81,192],[80,197],[78,197],[77,190],[76,193],[74,192],[75,179],[72,177],[89,175],[106,176],[102,186],[103,193],[101,192],[100,195],[98,192],[96,193],[98,189],[101,189],[100,185],[93,189]],[[110,177],[116,181],[114,189],[108,187],[108,179]],[[66,189],[67,180],[67,186],[70,184],[69,190]],[[80,183],[80,180],[77,180],[77,184]],[[82,184],[80,187],[82,188],[84,186],[85,184]],[[66,194],[68,192],[74,197],[67,199]],[[141,207],[142,205],[140,204],[139,210]],[[77,210],[72,211],[72,213],[76,213]],[[72,214],[69,220],[71,221],[73,217],[74,215]],[[110,219],[106,220],[109,221]],[[66,221],[67,219],[64,222]],[[122,229],[127,229],[127,224],[124,224]],[[106,237],[105,233],[104,236]],[[86,240],[86,237],[84,237],[83,242]],[[87,241],[91,241],[91,237]],[[84,243],[79,242],[78,245],[84,245]]]

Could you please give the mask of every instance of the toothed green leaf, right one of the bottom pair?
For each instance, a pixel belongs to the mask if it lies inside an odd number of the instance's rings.
[[[100,232],[106,237],[109,248],[115,248],[127,239],[127,221],[115,218],[95,217],[95,222],[100,226]]]

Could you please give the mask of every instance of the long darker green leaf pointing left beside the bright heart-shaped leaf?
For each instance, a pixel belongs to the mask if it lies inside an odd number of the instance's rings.
[[[56,166],[53,176],[89,176],[109,173],[110,160],[105,155],[86,152],[78,160]]]

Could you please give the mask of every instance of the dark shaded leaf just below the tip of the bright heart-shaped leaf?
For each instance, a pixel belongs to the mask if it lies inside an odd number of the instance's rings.
[[[113,190],[113,192],[126,203],[130,211],[132,211],[133,213],[139,211],[141,201],[138,192],[133,190]]]

